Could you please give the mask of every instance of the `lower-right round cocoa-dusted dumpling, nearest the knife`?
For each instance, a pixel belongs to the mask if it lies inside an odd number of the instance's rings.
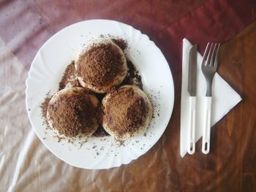
[[[117,139],[143,134],[152,118],[151,102],[134,85],[110,91],[102,100],[102,126]]]

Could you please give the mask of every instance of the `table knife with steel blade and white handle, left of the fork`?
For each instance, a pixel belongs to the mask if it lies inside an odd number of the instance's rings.
[[[189,50],[189,140],[187,152],[195,153],[195,114],[196,114],[196,96],[197,96],[197,45]]]

